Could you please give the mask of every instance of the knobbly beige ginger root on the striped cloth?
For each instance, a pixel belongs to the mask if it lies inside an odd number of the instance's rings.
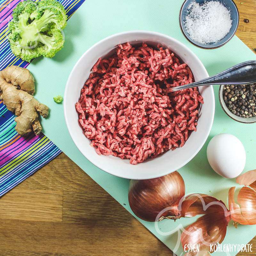
[[[38,112],[46,117],[49,108],[38,102],[35,93],[35,80],[28,69],[10,66],[0,71],[0,99],[6,108],[15,113],[15,130],[28,135],[32,130],[38,135],[42,126],[38,121]]]

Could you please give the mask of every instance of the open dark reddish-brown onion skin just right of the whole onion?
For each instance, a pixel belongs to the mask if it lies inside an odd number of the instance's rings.
[[[205,194],[191,194],[186,196],[181,208],[182,217],[205,214],[182,232],[180,240],[183,248],[185,244],[200,244],[200,250],[209,251],[210,244],[223,241],[231,218],[221,200]]]

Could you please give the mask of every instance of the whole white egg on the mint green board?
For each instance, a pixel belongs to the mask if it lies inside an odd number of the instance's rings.
[[[236,136],[220,133],[210,140],[207,158],[215,172],[226,178],[235,178],[244,170],[246,153]]]

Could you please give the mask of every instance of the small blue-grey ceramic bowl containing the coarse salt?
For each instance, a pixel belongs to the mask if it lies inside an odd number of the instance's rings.
[[[199,47],[205,48],[205,49],[214,49],[214,48],[218,48],[218,47],[226,44],[235,35],[236,29],[238,27],[238,22],[239,22],[239,12],[238,12],[236,4],[233,2],[233,0],[218,0],[221,4],[226,6],[228,8],[228,10],[230,11],[230,16],[232,19],[232,27],[230,28],[230,31],[228,32],[228,34],[224,38],[222,38],[220,41],[218,41],[216,43],[209,43],[209,44],[200,44],[200,43],[196,42],[188,35],[188,33],[185,29],[184,23],[185,23],[185,17],[188,13],[188,5],[193,1],[195,1],[198,4],[203,4],[205,2],[209,2],[212,0],[186,0],[182,4],[181,9],[180,9],[180,28],[181,28],[184,36],[192,44],[195,44],[196,46],[199,46]]]

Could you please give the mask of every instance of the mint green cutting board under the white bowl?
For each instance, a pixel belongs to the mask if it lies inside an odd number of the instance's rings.
[[[121,205],[126,204],[124,207],[131,214],[133,213],[127,197],[129,180],[101,171],[79,152],[69,136],[63,105],[54,103],[52,97],[58,94],[64,95],[70,71],[88,48],[104,37],[122,31],[151,30],[178,39],[199,57],[210,76],[239,62],[256,59],[253,52],[236,36],[228,44],[215,50],[204,50],[190,44],[181,33],[179,26],[182,2],[183,0],[86,0],[68,20],[64,31],[66,36],[64,48],[53,59],[39,58],[28,67],[36,79],[36,99],[51,109],[49,118],[42,120],[44,134]],[[218,88],[215,88],[215,99],[216,111],[210,136],[194,159],[179,172],[185,180],[186,195],[204,193],[227,203],[228,189],[236,186],[235,180],[222,178],[211,169],[206,158],[207,144],[214,135],[219,133],[227,132],[236,135],[243,142],[246,150],[245,171],[255,169],[256,124],[240,124],[228,118],[220,107]],[[176,222],[163,220],[157,223],[158,231],[154,223],[141,220],[140,222],[171,250],[175,250],[177,255],[181,255],[181,246],[178,249],[176,246],[177,240],[179,241],[179,232],[174,230],[179,226],[185,227],[195,220],[196,218],[183,218]],[[238,228],[234,228],[230,222],[223,243],[246,244],[255,235],[255,226],[239,225]],[[230,252],[229,255],[236,255],[236,253]],[[215,252],[213,255],[223,256],[226,253]]]

